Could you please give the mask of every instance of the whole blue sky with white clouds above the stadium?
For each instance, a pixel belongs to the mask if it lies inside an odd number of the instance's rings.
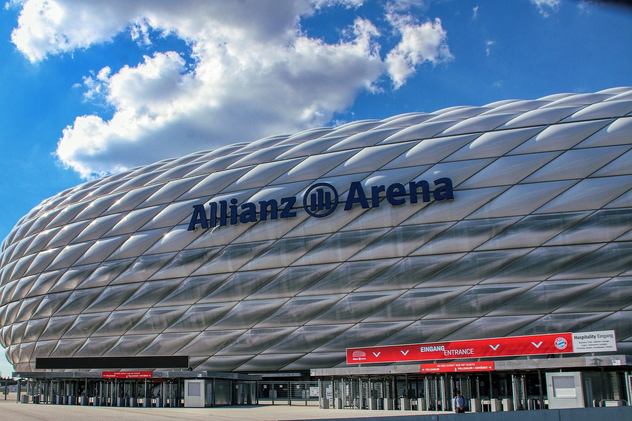
[[[571,0],[10,1],[0,238],[61,190],[196,150],[630,86],[631,28]]]

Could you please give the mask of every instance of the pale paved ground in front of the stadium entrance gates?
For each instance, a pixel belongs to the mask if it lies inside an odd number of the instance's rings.
[[[368,411],[319,409],[317,406],[224,406],[217,408],[110,408],[106,406],[33,405],[0,396],[0,419],[3,421],[126,421],[126,420],[222,420],[266,421],[307,420],[316,418],[384,417],[386,415],[422,415],[437,412]]]

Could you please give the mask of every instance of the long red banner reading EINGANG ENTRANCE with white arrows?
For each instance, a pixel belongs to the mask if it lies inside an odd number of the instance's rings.
[[[347,348],[347,363],[454,360],[573,352],[571,333]]]

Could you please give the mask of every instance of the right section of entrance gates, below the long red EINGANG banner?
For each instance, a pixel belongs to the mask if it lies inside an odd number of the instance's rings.
[[[422,373],[419,364],[312,369],[324,408],[495,412],[632,405],[632,357],[496,361],[494,370]]]

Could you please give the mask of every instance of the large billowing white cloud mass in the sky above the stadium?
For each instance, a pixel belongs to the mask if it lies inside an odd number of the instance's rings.
[[[384,76],[400,87],[416,66],[452,58],[441,21],[418,25],[401,11],[404,3],[387,18],[401,42],[386,59],[379,28],[362,18],[335,43],[305,34],[301,16],[332,4],[357,8],[362,1],[27,0],[11,39],[32,62],[109,42],[123,31],[147,46],[151,30],[188,42],[193,64],[179,52],[155,52],[84,79],[85,98],[104,101],[114,114],[78,116],[63,130],[56,154],[89,178],[324,125],[360,91],[379,90]]]

